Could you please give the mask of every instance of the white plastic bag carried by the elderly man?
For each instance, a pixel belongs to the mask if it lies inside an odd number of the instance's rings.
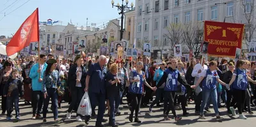
[[[92,107],[91,107],[90,98],[87,92],[84,93],[84,96],[80,101],[79,107],[77,109],[77,114],[80,114],[82,116],[92,115]]]

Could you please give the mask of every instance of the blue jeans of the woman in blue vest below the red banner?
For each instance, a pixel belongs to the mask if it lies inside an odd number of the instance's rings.
[[[203,88],[202,94],[203,94],[203,99],[202,99],[202,104],[201,104],[201,108],[200,108],[200,114],[201,115],[204,114],[205,105],[206,105],[207,101],[209,100],[209,98],[211,97],[214,112],[215,112],[216,116],[219,116],[219,110],[218,110],[218,104],[217,104],[217,90]]]

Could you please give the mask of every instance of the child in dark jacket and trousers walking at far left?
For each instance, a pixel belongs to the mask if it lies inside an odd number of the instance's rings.
[[[22,97],[22,81],[19,76],[18,70],[12,71],[12,78],[6,82],[4,86],[3,95],[6,96],[6,108],[7,108],[7,117],[6,120],[11,120],[12,107],[14,103],[15,114],[16,114],[16,122],[20,120],[19,116],[19,95]]]

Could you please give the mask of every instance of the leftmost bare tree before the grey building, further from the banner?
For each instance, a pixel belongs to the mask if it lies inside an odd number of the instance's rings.
[[[164,34],[164,38],[167,38],[168,41],[170,42],[170,47],[173,52],[174,52],[174,47],[177,44],[181,44],[181,38],[182,38],[182,24],[170,24],[170,26],[167,27],[168,34]]]

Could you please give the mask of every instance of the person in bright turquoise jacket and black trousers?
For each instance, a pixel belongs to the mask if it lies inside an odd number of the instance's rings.
[[[32,103],[33,116],[32,119],[40,118],[40,110],[43,106],[42,96],[42,81],[44,78],[44,71],[47,68],[47,56],[40,54],[38,63],[34,64],[29,72],[29,78],[32,79]]]

